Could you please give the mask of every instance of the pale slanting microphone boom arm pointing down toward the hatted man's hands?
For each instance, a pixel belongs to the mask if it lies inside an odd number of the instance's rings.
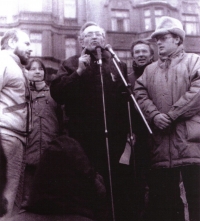
[[[140,109],[140,107],[139,107],[139,105],[138,105],[138,103],[137,103],[135,97],[133,96],[133,92],[131,91],[130,86],[129,86],[128,83],[126,82],[126,80],[125,80],[125,78],[124,78],[124,76],[123,76],[123,74],[122,74],[122,72],[121,72],[121,70],[120,70],[120,68],[119,68],[119,66],[118,66],[118,64],[117,64],[117,62],[115,61],[115,58],[114,58],[113,55],[112,55],[112,60],[113,60],[113,63],[114,63],[114,65],[115,65],[115,67],[117,68],[117,70],[118,70],[118,72],[119,72],[119,75],[120,75],[122,81],[124,82],[125,87],[127,88],[128,92],[129,92],[129,94],[130,94],[130,97],[132,98],[132,100],[133,100],[133,102],[134,102],[134,104],[135,104],[137,110],[139,111],[140,116],[142,117],[144,123],[146,124],[146,127],[147,127],[149,133],[150,133],[150,134],[153,134],[153,132],[152,132],[151,128],[149,127],[149,125],[148,125],[148,123],[147,123],[147,121],[146,121],[146,119],[145,119],[145,117],[144,117],[144,115],[143,115],[143,113],[142,113],[142,111],[141,111],[141,109]],[[132,134],[131,134],[131,135],[132,135]]]

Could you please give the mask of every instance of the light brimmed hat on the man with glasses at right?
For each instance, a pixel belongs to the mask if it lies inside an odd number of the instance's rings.
[[[163,16],[160,18],[155,32],[151,34],[151,38],[155,38],[157,35],[166,35],[169,33],[176,34],[182,39],[185,38],[185,31],[183,30],[181,22],[176,18]]]

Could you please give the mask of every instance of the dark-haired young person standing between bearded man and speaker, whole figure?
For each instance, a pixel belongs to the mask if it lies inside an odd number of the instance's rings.
[[[21,207],[26,208],[30,188],[40,158],[49,143],[62,133],[63,111],[50,95],[49,86],[45,82],[47,71],[43,62],[32,59],[27,65],[32,96],[32,131],[28,136],[25,155],[25,175],[23,184],[23,201]]]

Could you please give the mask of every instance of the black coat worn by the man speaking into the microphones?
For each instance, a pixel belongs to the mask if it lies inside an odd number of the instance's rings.
[[[101,157],[106,155],[106,147],[101,76],[96,54],[86,53],[90,54],[91,62],[85,72],[79,76],[76,72],[79,56],[70,57],[62,63],[50,90],[57,102],[65,104],[69,136],[81,143],[90,160],[95,163],[99,160],[103,166],[106,159]],[[109,52],[102,52],[102,61],[108,139],[118,162],[128,128],[125,89]],[[126,77],[126,65],[121,63],[120,68]]]

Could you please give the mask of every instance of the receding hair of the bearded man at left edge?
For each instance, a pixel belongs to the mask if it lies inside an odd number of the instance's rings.
[[[5,50],[8,48],[8,41],[9,39],[13,39],[14,41],[18,41],[18,33],[19,29],[10,29],[4,33],[1,39],[1,50]]]

